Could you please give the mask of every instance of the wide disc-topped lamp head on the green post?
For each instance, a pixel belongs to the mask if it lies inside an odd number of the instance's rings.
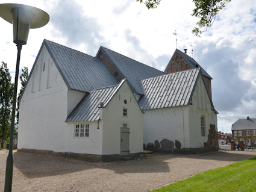
[[[40,28],[49,22],[49,15],[39,8],[22,4],[0,4],[0,16],[13,23],[13,42],[27,44],[30,28]]]

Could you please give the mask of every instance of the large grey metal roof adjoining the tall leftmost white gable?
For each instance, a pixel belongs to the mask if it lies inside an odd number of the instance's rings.
[[[69,89],[90,92],[92,89],[118,84],[98,58],[46,39],[43,45],[48,49]]]

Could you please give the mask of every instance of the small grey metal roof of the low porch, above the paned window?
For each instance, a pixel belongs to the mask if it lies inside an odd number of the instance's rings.
[[[93,90],[90,94],[86,94],[65,122],[93,122],[99,120],[99,103],[104,102],[103,107],[107,107],[123,82],[125,82],[125,79],[120,81],[118,85],[99,88]]]

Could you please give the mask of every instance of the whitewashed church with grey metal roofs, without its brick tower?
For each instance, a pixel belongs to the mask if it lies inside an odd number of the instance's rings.
[[[44,40],[20,99],[18,148],[90,161],[140,155],[143,146],[217,150],[205,73],[167,74],[102,46],[92,57]]]

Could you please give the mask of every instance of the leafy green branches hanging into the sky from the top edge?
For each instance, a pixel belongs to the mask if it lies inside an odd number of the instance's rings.
[[[143,0],[137,0],[142,3]],[[161,0],[146,0],[145,5],[149,8],[157,8]],[[192,30],[192,34],[201,37],[200,35],[207,31],[207,28],[213,25],[214,20],[222,8],[226,6],[226,3],[231,0],[192,0],[195,3],[192,16],[198,17],[200,20],[196,23],[198,27]],[[202,30],[202,28],[204,28]]]

